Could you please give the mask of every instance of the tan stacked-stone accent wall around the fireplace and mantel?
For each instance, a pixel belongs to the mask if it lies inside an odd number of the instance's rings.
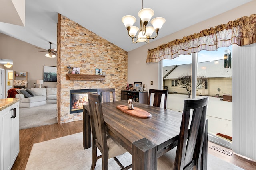
[[[102,37],[66,18],[60,22],[60,123],[83,119],[83,113],[69,113],[70,89],[115,88],[116,100],[126,88],[128,53]],[[59,30],[58,30],[59,31]],[[96,68],[106,72],[104,81],[66,80],[68,65],[80,67],[80,74],[95,74]]]

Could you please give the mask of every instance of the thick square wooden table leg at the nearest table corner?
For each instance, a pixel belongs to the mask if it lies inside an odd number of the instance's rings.
[[[132,170],[156,170],[157,146],[146,138],[132,143]]]

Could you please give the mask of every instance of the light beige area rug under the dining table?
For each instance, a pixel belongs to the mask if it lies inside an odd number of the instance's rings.
[[[26,170],[90,170],[92,149],[83,148],[83,133],[34,143]],[[98,151],[98,153],[100,153]],[[127,152],[118,156],[118,160],[127,166],[132,163],[132,156]],[[109,170],[120,169],[114,159],[108,160]],[[208,154],[208,170],[243,170]],[[102,159],[99,159],[95,170],[102,170]]]

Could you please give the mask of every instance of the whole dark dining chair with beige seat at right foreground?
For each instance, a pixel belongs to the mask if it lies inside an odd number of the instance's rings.
[[[201,166],[201,160],[207,161],[207,149],[202,154],[204,140],[207,140],[207,104],[208,96],[184,100],[178,146],[158,158],[158,170],[207,168]]]

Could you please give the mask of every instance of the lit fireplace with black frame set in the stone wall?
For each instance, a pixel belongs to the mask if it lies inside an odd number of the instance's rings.
[[[88,92],[97,93],[97,89],[70,90],[70,114],[83,112],[84,104],[88,104]]]

